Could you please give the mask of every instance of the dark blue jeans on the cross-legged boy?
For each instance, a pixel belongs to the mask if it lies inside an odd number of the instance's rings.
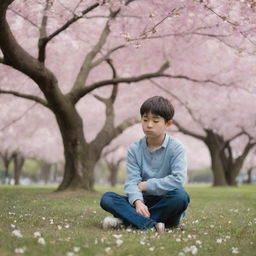
[[[137,213],[128,202],[127,196],[114,192],[103,194],[100,206],[115,217],[122,219],[125,225],[131,224],[145,230],[152,228],[157,222],[165,223],[167,228],[178,226],[189,201],[189,195],[183,189],[174,189],[164,196],[145,195],[144,202],[149,209],[150,218]]]

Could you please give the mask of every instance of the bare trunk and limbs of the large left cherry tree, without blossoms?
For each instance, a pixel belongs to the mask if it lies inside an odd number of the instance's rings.
[[[69,18],[64,25],[58,27],[50,34],[47,34],[48,12],[53,6],[53,3],[51,1],[46,1],[42,12],[41,25],[39,26],[40,36],[38,40],[38,56],[35,58],[19,44],[9,27],[6,19],[6,11],[12,2],[13,1],[6,0],[2,1],[0,4],[0,47],[3,53],[1,62],[22,72],[33,80],[40,88],[44,98],[12,90],[1,90],[1,93],[9,93],[18,97],[33,100],[54,113],[62,135],[66,160],[64,178],[59,186],[59,190],[68,187],[92,189],[93,165],[100,157],[100,151],[103,146],[107,145],[115,136],[120,134],[127,125],[133,123],[133,120],[125,120],[117,126],[114,126],[113,124],[113,103],[118,83],[137,82],[151,77],[159,77],[168,67],[168,64],[162,65],[156,72],[131,77],[117,77],[115,67],[109,60],[109,56],[111,53],[122,48],[122,45],[114,46],[105,52],[103,56],[98,56],[110,34],[111,21],[120,13],[120,8],[117,8],[116,10],[108,8],[107,10],[104,10],[104,15],[107,15],[107,19],[103,26],[99,26],[102,27],[102,30],[99,33],[98,39],[96,39],[96,43],[94,43],[94,46],[85,55],[72,89],[64,94],[58,85],[56,76],[50,68],[47,68],[47,45],[61,32],[67,30],[78,20],[81,20],[83,16],[94,10],[97,11],[100,4],[98,2],[85,4],[84,9],[79,15],[73,13],[72,17]],[[126,1],[125,5],[128,5],[130,2],[132,1]],[[15,10],[15,6],[13,8]],[[105,61],[109,64],[110,69],[113,72],[112,78],[105,78],[101,81],[86,84],[91,70]],[[98,97],[98,99],[106,105],[108,118],[95,140],[88,143],[85,140],[83,133],[83,121],[77,112],[75,105],[86,94],[92,92],[96,88],[106,85],[113,85],[113,91],[110,98]]]

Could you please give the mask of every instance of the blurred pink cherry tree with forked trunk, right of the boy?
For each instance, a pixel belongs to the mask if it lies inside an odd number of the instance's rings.
[[[240,94],[241,101],[234,105],[232,97],[226,98],[225,93],[220,89],[215,89],[217,108],[213,101],[213,95],[208,97],[198,97],[200,92],[204,93],[204,88],[198,88],[196,93],[197,101],[202,107],[197,109],[192,107],[195,99],[190,95],[186,102],[181,100],[173,92],[154,83],[158,88],[164,90],[173,100],[177,101],[185,110],[185,114],[174,120],[175,126],[185,135],[201,140],[208,147],[211,156],[211,168],[213,172],[214,186],[233,186],[237,184],[236,178],[240,173],[246,157],[256,145],[256,134],[254,129],[254,110],[247,101],[251,101],[254,95],[245,94],[244,98]],[[235,93],[239,93],[235,90]],[[243,99],[243,100],[242,100]],[[224,113],[226,106],[234,108],[234,118],[230,112]],[[239,110],[246,113],[245,118],[239,118]],[[212,114],[214,112],[214,115]],[[209,115],[209,116],[207,116]],[[187,118],[185,118],[187,116]],[[227,116],[229,118],[227,118]],[[182,118],[184,120],[182,120]],[[251,118],[251,122],[248,122]],[[187,121],[189,120],[189,122]],[[229,128],[226,130],[225,128]],[[195,156],[200,157],[200,156]]]

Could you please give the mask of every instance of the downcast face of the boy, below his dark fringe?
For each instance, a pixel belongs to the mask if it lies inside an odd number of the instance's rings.
[[[141,117],[141,124],[145,135],[154,138],[164,135],[172,120],[165,122],[163,117],[150,112]]]

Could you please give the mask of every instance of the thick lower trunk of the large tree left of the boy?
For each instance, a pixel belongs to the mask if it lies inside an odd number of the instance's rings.
[[[56,110],[55,116],[65,155],[64,176],[57,191],[76,188],[93,190],[95,156],[85,140],[81,117],[72,104],[63,112]]]

